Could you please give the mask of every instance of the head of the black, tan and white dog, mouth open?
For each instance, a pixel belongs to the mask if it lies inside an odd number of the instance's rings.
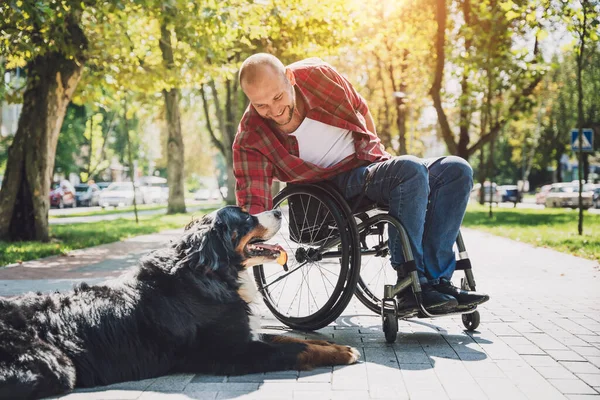
[[[216,271],[238,269],[272,262],[281,247],[263,242],[281,227],[279,210],[251,215],[240,207],[227,206],[186,226],[186,235],[177,243],[182,262]]]

